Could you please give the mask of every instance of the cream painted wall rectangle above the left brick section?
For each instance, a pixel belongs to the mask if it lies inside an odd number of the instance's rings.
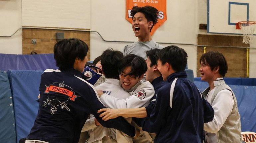
[[[90,0],[22,0],[22,25],[90,28]]]

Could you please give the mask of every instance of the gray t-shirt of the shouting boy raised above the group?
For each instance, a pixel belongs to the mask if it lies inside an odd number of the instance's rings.
[[[164,46],[154,42],[153,40],[147,42],[134,42],[130,45],[126,45],[122,52],[124,56],[128,54],[137,54],[138,56],[146,59],[147,57],[145,51],[149,51],[152,48],[163,49]]]

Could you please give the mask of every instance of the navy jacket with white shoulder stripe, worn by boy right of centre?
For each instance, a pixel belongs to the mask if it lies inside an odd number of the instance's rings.
[[[159,89],[156,106],[142,129],[157,133],[154,143],[201,143],[204,107],[200,91],[186,72],[171,74],[167,82]]]

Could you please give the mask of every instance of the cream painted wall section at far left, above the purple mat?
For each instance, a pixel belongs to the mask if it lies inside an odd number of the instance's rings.
[[[21,0],[0,0],[0,21],[0,53],[22,54]]]

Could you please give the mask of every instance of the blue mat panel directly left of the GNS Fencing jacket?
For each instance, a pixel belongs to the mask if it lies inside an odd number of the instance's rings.
[[[8,71],[13,92],[17,142],[27,137],[38,112],[37,97],[43,71]]]

